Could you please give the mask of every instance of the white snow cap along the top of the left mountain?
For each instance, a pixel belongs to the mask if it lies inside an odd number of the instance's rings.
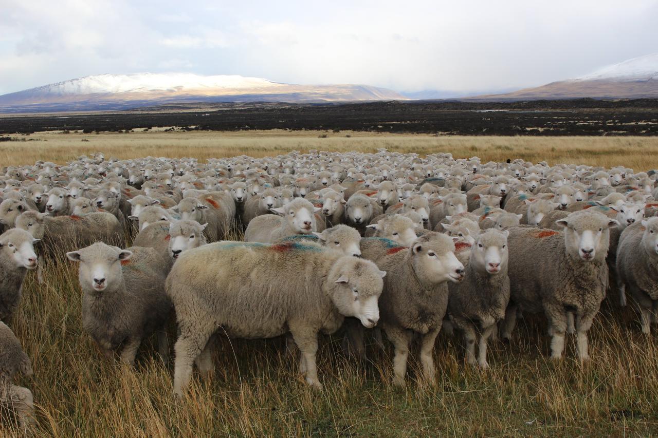
[[[201,76],[192,73],[134,73],[84,76],[34,90],[57,95],[93,93],[147,93],[149,91],[184,91],[187,89],[254,89],[276,87],[277,82],[238,75]]]

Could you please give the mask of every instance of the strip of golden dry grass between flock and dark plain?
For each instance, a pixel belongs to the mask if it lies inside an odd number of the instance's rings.
[[[318,138],[318,135],[327,135]],[[346,135],[351,135],[346,137]],[[266,157],[298,150],[376,152],[385,147],[401,153],[426,155],[450,152],[455,158],[480,157],[484,161],[523,158],[590,164],[624,165],[636,170],[658,168],[658,137],[465,137],[422,134],[373,134],[366,132],[248,131],[248,132],[131,132],[118,134],[18,135],[0,143],[0,163],[11,166],[36,160],[63,163],[95,151],[107,158],[232,157],[247,154]],[[83,141],[89,140],[89,141]]]

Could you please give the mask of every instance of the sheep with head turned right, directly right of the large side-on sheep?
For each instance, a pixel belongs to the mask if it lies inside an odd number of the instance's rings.
[[[464,278],[464,266],[455,257],[455,244],[447,235],[428,231],[411,248],[365,248],[362,244],[361,251],[388,272],[380,299],[379,325],[395,347],[393,383],[405,384],[415,334],[420,336],[422,376],[428,383],[436,383],[432,350],[447,307],[447,281]]]

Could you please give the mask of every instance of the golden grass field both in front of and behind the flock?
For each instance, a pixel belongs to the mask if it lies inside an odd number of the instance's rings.
[[[344,133],[343,133],[344,134]],[[240,155],[261,157],[289,149],[390,150],[484,160],[524,157],[554,162],[658,167],[658,139],[629,137],[352,137],[318,133],[34,134],[47,142],[0,143],[4,164],[65,160],[89,151],[106,157]],[[30,138],[28,137],[28,138]],[[81,137],[90,141],[82,142]],[[476,148],[472,150],[471,148]],[[505,148],[511,148],[507,150]],[[551,148],[555,148],[552,151]],[[34,150],[32,149],[34,148]],[[628,153],[644,151],[641,154]],[[527,155],[523,155],[527,154]],[[392,387],[392,350],[371,346],[357,364],[340,353],[340,338],[320,341],[318,373],[324,391],[297,375],[284,339],[222,340],[213,379],[193,379],[190,397],[172,397],[172,366],[151,341],[129,368],[105,360],[82,331],[77,265],[47,260],[45,285],[30,272],[13,329],[32,358],[34,376],[20,384],[36,401],[38,436],[436,436],[652,435],[658,433],[658,343],[640,333],[631,309],[607,302],[590,331],[592,360],[547,357],[542,318],[520,321],[510,344],[493,343],[491,370],[466,366],[459,339],[440,335],[438,385],[415,381]],[[170,328],[174,339],[175,328]],[[13,416],[0,410],[0,435],[15,434]]]

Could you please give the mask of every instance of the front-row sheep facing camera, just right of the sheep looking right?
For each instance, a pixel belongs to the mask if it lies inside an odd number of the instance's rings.
[[[487,230],[470,251],[461,283],[449,283],[448,313],[453,325],[464,333],[466,360],[489,368],[487,340],[505,318],[509,302],[507,236],[509,231]],[[476,331],[480,333],[478,341]],[[478,341],[478,358],[475,343]]]

